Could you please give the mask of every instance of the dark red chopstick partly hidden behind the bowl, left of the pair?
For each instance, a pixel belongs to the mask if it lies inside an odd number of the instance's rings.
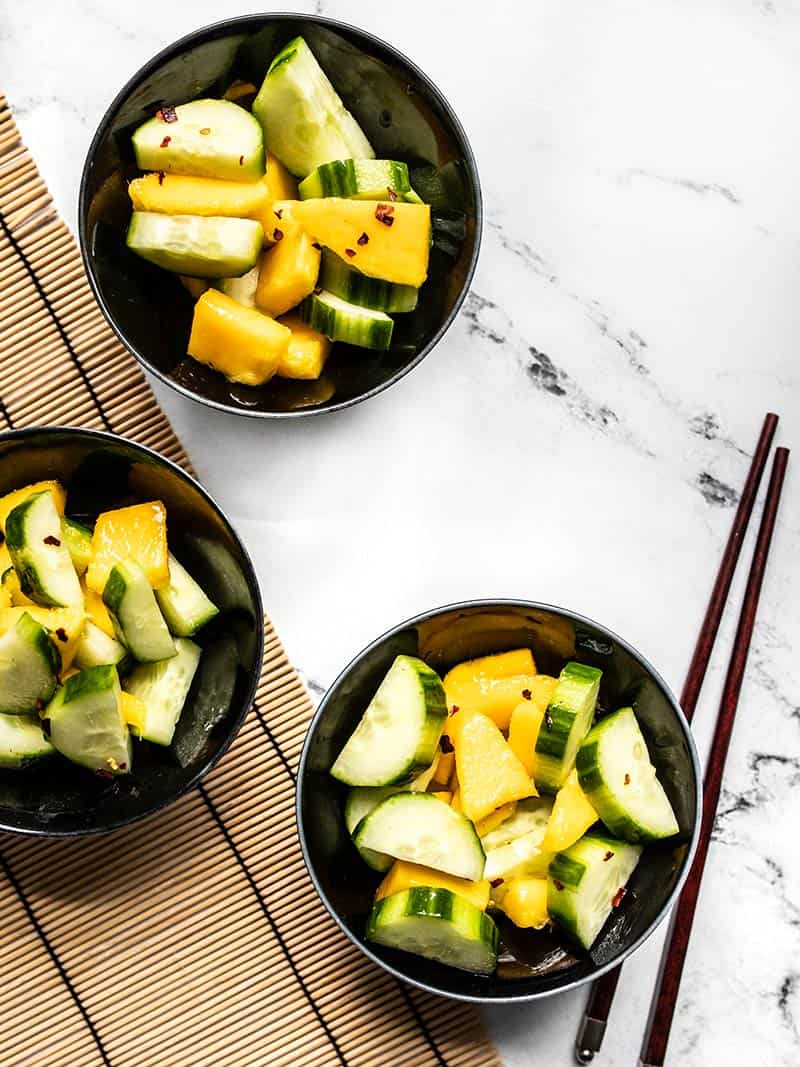
[[[739,498],[739,506],[734,515],[725,550],[720,559],[717,577],[708,598],[708,606],[706,607],[703,623],[700,627],[694,652],[692,653],[689,669],[686,673],[686,681],[681,692],[681,706],[690,722],[694,715],[700,690],[703,687],[711,651],[717,640],[725,603],[727,602],[727,594],[731,590],[731,583],[733,582],[741,546],[745,542],[745,536],[750,525],[750,516],[753,513],[753,506],[755,505],[758,487],[761,485],[762,476],[767,465],[769,449],[772,446],[772,439],[774,437],[777,427],[778,415],[769,412],[764,418],[762,431],[758,435],[758,443],[755,446],[747,480]],[[575,1041],[575,1058],[579,1064],[591,1063],[601,1050],[621,971],[622,964],[613,968],[613,970],[608,971],[603,977],[597,978],[592,986],[589,1002]]]

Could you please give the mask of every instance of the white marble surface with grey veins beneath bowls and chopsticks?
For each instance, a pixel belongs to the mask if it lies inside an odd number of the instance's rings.
[[[70,224],[119,84],[249,10],[3,0],[0,86]],[[496,0],[491,21],[452,0],[322,10],[450,97],[486,227],[455,325],[366,404],[271,426],[157,389],[292,659],[319,691],[418,610],[530,596],[606,622],[678,688],[762,416],[781,413],[789,445],[800,416],[797,0]],[[800,1062],[796,472],[787,488],[673,1032],[684,1067]],[[625,968],[607,1067],[635,1063],[658,941]],[[493,1012],[508,1067],[570,1064],[583,1000]]]

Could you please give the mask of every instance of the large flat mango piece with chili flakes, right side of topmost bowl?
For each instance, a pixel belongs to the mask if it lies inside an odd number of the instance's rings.
[[[431,209],[427,204],[325,196],[293,204],[292,213],[315,240],[363,274],[417,288],[428,276]]]

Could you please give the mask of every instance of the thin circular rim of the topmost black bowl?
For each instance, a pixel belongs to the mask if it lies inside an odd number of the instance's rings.
[[[378,46],[379,49],[385,49],[386,52],[398,63],[400,66],[405,66],[415,78],[417,78],[426,87],[428,93],[436,100],[437,105],[447,116],[453,131],[457,137],[461,139],[464,146],[464,160],[467,164],[467,171],[469,173],[469,179],[473,185],[474,195],[475,195],[475,244],[473,248],[473,253],[469,258],[469,264],[467,266],[466,274],[464,277],[464,284],[461,287],[461,291],[453,302],[448,315],[445,320],[439,324],[433,336],[423,345],[420,350],[416,353],[413,360],[407,364],[400,367],[390,378],[386,379],[385,382],[381,382],[379,385],[373,386],[366,393],[357,397],[350,397],[347,400],[340,400],[337,403],[330,404],[327,407],[319,408],[299,408],[295,411],[257,411],[255,409],[238,409],[233,407],[233,404],[222,403],[218,400],[211,400],[209,398],[201,396],[198,393],[188,388],[186,385],[181,385],[176,382],[164,371],[156,367],[150,361],[133,345],[131,345],[128,339],[123,335],[122,331],[118,329],[114,316],[111,309],[108,307],[107,302],[100,291],[99,283],[95,276],[94,270],[94,257],[90,252],[90,240],[87,234],[87,219],[89,219],[89,203],[87,203],[87,185],[89,185],[89,172],[97,155],[98,147],[101,140],[106,137],[108,129],[118,110],[119,106],[129,96],[129,94],[135,89],[140,81],[145,77],[158,69],[158,67],[175,55],[178,55],[185,48],[192,44],[198,44],[207,37],[211,37],[218,31],[223,29],[236,32],[237,28],[246,28],[253,23],[266,23],[269,21],[283,22],[289,19],[303,19],[308,22],[317,22],[320,26],[329,27],[333,30],[343,30],[348,33],[355,34],[361,37],[365,45]],[[81,257],[83,259],[83,266],[89,278],[89,284],[92,288],[97,304],[102,312],[107,322],[113,330],[114,334],[130,352],[134,359],[154,377],[158,378],[170,388],[175,389],[176,393],[180,393],[182,396],[188,397],[195,403],[203,404],[206,408],[213,408],[217,411],[227,412],[230,415],[240,415],[245,418],[278,418],[278,419],[293,419],[293,418],[305,418],[313,415],[330,415],[334,412],[343,411],[347,408],[352,408],[364,400],[369,400],[371,397],[378,396],[379,393],[383,393],[384,389],[389,388],[395,385],[407,373],[414,370],[422,360],[433,351],[433,349],[438,345],[444,335],[450,329],[455,320],[461,306],[466,300],[467,293],[469,292],[469,287],[475,275],[476,268],[478,266],[478,258],[481,250],[481,241],[483,236],[483,195],[481,192],[480,176],[478,173],[478,164],[475,159],[475,153],[466,136],[464,127],[455,114],[454,110],[450,106],[449,101],[438,89],[438,86],[432,81],[428,75],[416,65],[412,60],[407,58],[399,49],[395,48],[387,41],[379,37],[374,33],[370,33],[368,30],[363,30],[361,27],[353,26],[350,22],[343,22],[340,19],[329,18],[325,15],[311,15],[304,14],[302,12],[265,12],[262,14],[251,14],[251,15],[238,15],[234,18],[220,19],[218,22],[210,22],[207,26],[203,26],[197,30],[193,30],[191,33],[186,34],[182,37],[178,37],[172,44],[167,45],[157,52],[151,59],[144,63],[123,85],[123,87],[114,96],[111,103],[106,109],[102,118],[100,120],[97,129],[92,138],[92,141],[86,150],[86,158],[83,162],[83,168],[81,170],[80,184],[78,187],[78,241],[81,250]]]

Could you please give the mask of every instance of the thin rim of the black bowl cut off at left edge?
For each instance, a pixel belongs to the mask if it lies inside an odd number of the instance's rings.
[[[106,442],[108,444],[119,445],[123,444],[134,451],[141,452],[150,460],[155,460],[162,466],[167,467],[173,474],[177,475],[183,482],[186,482],[191,489],[196,490],[202,497],[208,503],[212,510],[220,516],[223,524],[227,528],[230,537],[233,538],[235,544],[239,548],[242,561],[244,563],[243,571],[244,577],[250,587],[251,593],[253,593],[253,603],[256,610],[256,656],[254,658],[254,668],[251,671],[251,679],[247,684],[246,699],[242,701],[242,707],[236,718],[231,721],[230,728],[227,735],[223,739],[217,752],[208,757],[198,767],[196,773],[188,779],[178,791],[169,799],[163,800],[161,803],[155,805],[154,807],[146,808],[141,812],[131,815],[126,818],[116,819],[110,823],[108,826],[89,827],[86,829],[68,829],[68,830],[51,830],[51,829],[37,829],[30,827],[19,827],[7,825],[5,819],[0,815],[0,831],[7,833],[18,833],[30,838],[84,838],[94,834],[109,833],[114,830],[119,830],[125,826],[131,826],[133,823],[140,823],[145,818],[149,818],[156,815],[158,812],[163,811],[171,805],[175,803],[181,796],[188,793],[190,790],[195,789],[206,775],[222,759],[222,757],[227,752],[228,748],[234,743],[239,731],[241,730],[244,719],[249,715],[253,707],[255,701],[256,689],[258,688],[258,683],[261,678],[261,669],[263,665],[263,603],[261,600],[261,590],[258,584],[258,577],[256,575],[255,568],[253,567],[253,560],[250,558],[250,553],[246,546],[239,537],[234,527],[233,523],[222,510],[222,508],[217,504],[211,494],[206,490],[196,478],[192,477],[187,471],[178,466],[173,460],[167,459],[155,449],[149,448],[147,445],[142,445],[138,441],[132,441],[130,437],[124,437],[119,433],[113,433],[106,430],[94,430],[83,428],[81,426],[59,426],[58,424],[48,424],[47,426],[34,426],[34,427],[22,427],[17,430],[3,430],[0,432],[0,445],[5,444],[7,441],[25,441],[26,439],[36,437],[41,434],[46,433],[60,433],[66,436],[75,437],[90,437],[97,442]]]

